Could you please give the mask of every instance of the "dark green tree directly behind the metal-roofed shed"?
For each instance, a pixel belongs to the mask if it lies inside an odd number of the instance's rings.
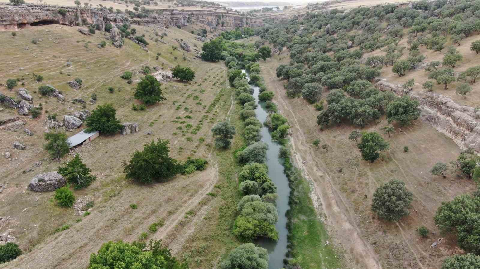
[[[92,115],[87,117],[85,132],[91,133],[98,131],[103,134],[115,134],[123,128],[120,121],[115,117],[117,110],[113,108],[112,103],[106,103],[96,107]]]

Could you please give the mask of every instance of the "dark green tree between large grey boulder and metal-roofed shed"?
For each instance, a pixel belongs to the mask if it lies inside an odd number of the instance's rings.
[[[75,157],[64,167],[59,168],[59,173],[67,179],[69,184],[73,185],[75,190],[89,186],[96,179],[96,176],[90,172],[90,168],[82,162],[82,158],[78,154],[75,154]]]

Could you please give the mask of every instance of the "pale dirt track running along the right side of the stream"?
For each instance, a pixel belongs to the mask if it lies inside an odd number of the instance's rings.
[[[275,101],[278,103],[278,108],[290,119],[290,124],[292,125],[291,141],[293,150],[296,153],[295,161],[307,180],[312,183],[311,185],[314,189],[312,200],[321,202],[322,208],[320,206],[317,207],[317,211],[321,211],[319,215],[324,213],[329,226],[338,231],[336,236],[341,237],[342,242],[348,242],[349,246],[345,246],[345,249],[353,256],[355,263],[359,264],[361,268],[382,268],[372,247],[361,238],[359,227],[348,217],[348,213],[342,209],[346,208],[347,205],[342,201],[340,194],[332,185],[331,178],[315,161],[312,147],[306,141],[305,135],[297,121],[297,117],[302,117],[302,115],[290,109],[288,102],[285,100],[283,87],[276,79],[274,69],[264,68],[262,71],[264,78],[273,81],[273,85],[269,86],[276,93]],[[305,161],[306,163],[303,163]],[[315,199],[315,193],[318,194],[318,199]],[[318,202],[315,205],[317,206]]]

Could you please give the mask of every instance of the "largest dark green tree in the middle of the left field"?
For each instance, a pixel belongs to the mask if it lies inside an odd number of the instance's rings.
[[[152,183],[164,181],[180,172],[181,167],[177,160],[168,156],[170,148],[168,140],[152,140],[151,143],[144,144],[144,150],[136,150],[128,163],[123,162],[123,172],[127,179],[134,182]]]

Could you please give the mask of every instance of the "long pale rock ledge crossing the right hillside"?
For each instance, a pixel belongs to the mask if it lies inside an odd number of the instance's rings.
[[[380,80],[379,90],[391,90],[398,95],[409,95],[420,102],[420,118],[437,131],[452,138],[462,149],[473,148],[480,152],[480,111],[455,103],[450,96],[423,91],[404,90],[401,85]]]

